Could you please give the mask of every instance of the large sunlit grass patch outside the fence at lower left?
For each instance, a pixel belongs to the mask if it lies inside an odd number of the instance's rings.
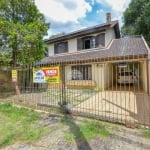
[[[16,141],[37,140],[44,133],[36,124],[40,113],[33,110],[1,103],[0,116],[0,148]]]

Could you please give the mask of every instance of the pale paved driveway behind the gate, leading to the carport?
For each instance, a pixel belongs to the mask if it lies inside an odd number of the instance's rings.
[[[104,91],[73,108],[74,111],[120,122],[150,125],[150,97],[129,91]]]

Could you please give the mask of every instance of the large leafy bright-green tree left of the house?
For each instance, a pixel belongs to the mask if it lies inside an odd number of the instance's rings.
[[[0,0],[0,59],[13,66],[40,60],[48,27],[34,0]]]

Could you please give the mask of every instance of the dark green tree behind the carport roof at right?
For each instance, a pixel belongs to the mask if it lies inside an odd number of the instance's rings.
[[[124,12],[122,35],[143,35],[150,45],[150,1],[131,0]]]

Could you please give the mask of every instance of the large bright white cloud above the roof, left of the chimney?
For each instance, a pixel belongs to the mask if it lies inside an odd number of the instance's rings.
[[[85,0],[35,0],[35,4],[47,20],[61,23],[77,23],[92,10]]]

